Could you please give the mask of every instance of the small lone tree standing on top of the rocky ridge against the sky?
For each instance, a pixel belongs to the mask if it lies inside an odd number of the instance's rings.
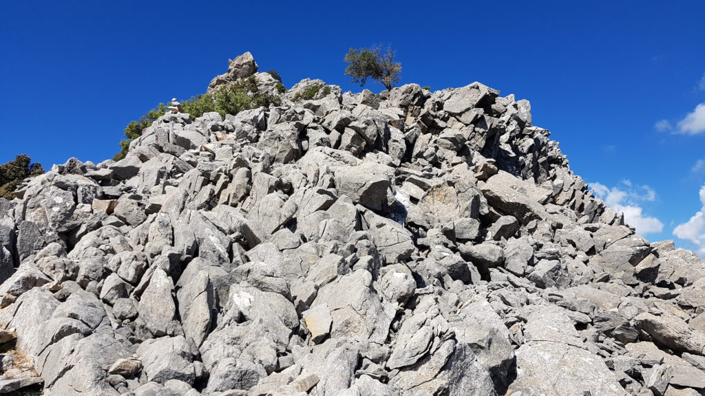
[[[345,75],[352,77],[352,82],[360,82],[360,87],[364,87],[367,79],[372,78],[386,89],[392,89],[401,81],[401,63],[394,61],[394,55],[389,46],[351,48],[345,55],[345,62],[350,63],[345,68]]]

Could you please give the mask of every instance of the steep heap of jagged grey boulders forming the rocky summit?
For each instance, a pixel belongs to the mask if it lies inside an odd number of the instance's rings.
[[[0,392],[705,394],[704,261],[606,208],[529,101],[280,93],[249,53],[208,90],[252,76],[281,104],[166,113],[0,199]]]

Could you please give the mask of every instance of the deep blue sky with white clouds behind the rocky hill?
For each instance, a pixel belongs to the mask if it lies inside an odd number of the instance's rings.
[[[359,91],[343,56],[383,42],[403,83],[529,99],[649,240],[676,230],[705,253],[705,1],[144,3],[1,0],[0,162],[111,158],[130,120],[204,92],[245,51],[288,87]]]

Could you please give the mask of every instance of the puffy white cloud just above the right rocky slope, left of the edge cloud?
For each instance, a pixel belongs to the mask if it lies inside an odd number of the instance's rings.
[[[618,187],[607,187],[599,182],[589,183],[595,195],[618,214],[624,214],[627,224],[637,229],[639,234],[661,233],[663,223],[658,218],[644,216],[644,209],[639,202],[653,202],[656,192],[648,185],[634,185],[630,180],[623,180]]]

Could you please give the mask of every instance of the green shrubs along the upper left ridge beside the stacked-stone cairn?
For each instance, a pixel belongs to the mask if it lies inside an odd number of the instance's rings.
[[[284,90],[286,91],[286,88]],[[259,92],[257,79],[253,75],[233,84],[223,85],[212,94],[202,94],[183,101],[181,107],[191,119],[195,119],[211,111],[217,111],[225,117],[226,114],[235,115],[243,110],[269,107],[270,104],[278,106],[281,104],[281,99],[272,94]],[[164,113],[166,113],[166,106],[160,103],[157,109],[152,109],[145,116],[140,117],[139,121],[129,123],[125,128],[125,137],[128,139],[120,142],[121,151],[115,154],[113,159],[120,161],[125,158],[130,142],[140,137],[142,130],[149,128],[149,125],[152,125],[154,120],[163,116]]]

